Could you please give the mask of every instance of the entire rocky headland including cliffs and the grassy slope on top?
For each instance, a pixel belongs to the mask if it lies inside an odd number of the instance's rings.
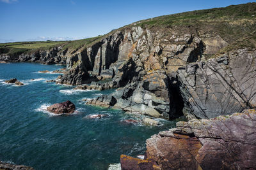
[[[248,3],[151,18],[75,49],[60,45],[0,60],[67,64],[58,83],[118,88],[88,104],[212,118],[255,108],[255,11]]]

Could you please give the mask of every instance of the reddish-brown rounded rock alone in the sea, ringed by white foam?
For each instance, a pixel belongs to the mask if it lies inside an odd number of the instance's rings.
[[[76,106],[71,101],[52,104],[52,106],[49,106],[47,108],[47,111],[50,111],[55,114],[74,113],[75,110],[76,110]]]

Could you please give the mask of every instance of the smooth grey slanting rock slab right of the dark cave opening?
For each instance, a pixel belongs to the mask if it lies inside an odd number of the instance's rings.
[[[198,118],[255,108],[256,51],[237,50],[216,59],[180,67],[180,91]]]

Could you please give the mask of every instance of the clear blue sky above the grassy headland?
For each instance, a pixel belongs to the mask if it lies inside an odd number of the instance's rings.
[[[161,15],[252,3],[246,0],[0,0],[0,43],[73,40]]]

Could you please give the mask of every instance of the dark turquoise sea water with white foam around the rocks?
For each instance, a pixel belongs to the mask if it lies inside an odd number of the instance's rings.
[[[108,169],[119,162],[120,154],[136,157],[145,152],[145,140],[159,131],[174,127],[174,122],[160,120],[161,125],[125,124],[125,119],[143,117],[94,106],[81,99],[109,94],[115,90],[72,90],[73,87],[46,83],[59,74],[63,66],[31,63],[0,64],[0,160],[24,164],[35,169]],[[17,78],[25,83],[16,87],[3,83]],[[35,79],[31,81],[31,79]],[[54,116],[44,109],[54,103],[72,101],[74,115]],[[108,114],[89,119],[87,115]]]

